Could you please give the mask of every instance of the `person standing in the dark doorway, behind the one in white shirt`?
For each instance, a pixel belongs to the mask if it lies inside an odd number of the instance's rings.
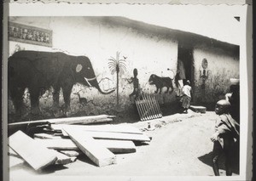
[[[186,79],[185,68],[183,61],[177,59],[177,74],[176,74],[177,97],[182,96],[183,80]]]

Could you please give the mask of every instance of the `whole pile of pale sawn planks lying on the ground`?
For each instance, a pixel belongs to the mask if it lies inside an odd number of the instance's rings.
[[[42,127],[42,123],[47,127],[32,136],[20,130],[9,136],[9,165],[13,167],[26,162],[38,171],[49,165],[72,163],[78,156],[87,156],[96,166],[103,167],[116,164],[117,153],[136,152],[135,142],[150,142],[151,139],[137,127],[102,124],[113,117],[101,115],[32,121],[35,127]],[[89,125],[92,122],[101,125]],[[19,124],[27,122],[9,125]]]

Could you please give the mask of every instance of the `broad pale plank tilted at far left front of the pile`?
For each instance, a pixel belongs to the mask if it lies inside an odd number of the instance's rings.
[[[34,139],[18,131],[9,137],[9,147],[21,156],[35,170],[55,163],[57,157],[52,150],[34,142]]]

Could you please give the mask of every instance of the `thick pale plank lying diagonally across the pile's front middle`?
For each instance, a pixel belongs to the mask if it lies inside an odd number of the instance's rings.
[[[67,127],[64,127],[64,130],[79,149],[97,166],[103,167],[116,163],[116,156],[106,147],[96,144],[96,140],[87,135],[88,132],[81,132]]]

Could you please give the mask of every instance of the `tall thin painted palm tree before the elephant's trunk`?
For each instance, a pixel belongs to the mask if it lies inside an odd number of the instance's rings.
[[[108,59],[108,68],[111,71],[111,74],[113,75],[116,73],[116,90],[117,90],[117,105],[119,105],[119,73],[125,73],[126,71],[126,57],[124,59],[120,59],[120,53],[116,52],[116,58],[114,59],[111,57],[111,59]]]

